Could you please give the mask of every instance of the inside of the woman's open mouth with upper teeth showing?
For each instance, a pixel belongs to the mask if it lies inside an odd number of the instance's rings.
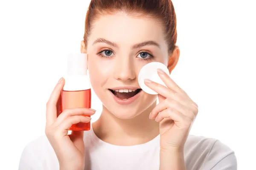
[[[117,98],[122,100],[127,100],[136,94],[138,94],[141,91],[141,88],[138,88],[137,90],[131,90],[131,89],[120,89],[120,90],[110,90]]]

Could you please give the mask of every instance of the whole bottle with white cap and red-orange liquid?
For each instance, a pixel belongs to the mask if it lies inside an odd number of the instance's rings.
[[[61,113],[67,108],[90,108],[91,89],[87,76],[87,54],[68,55],[67,74],[64,79],[65,85],[61,92]],[[69,130],[90,130],[90,122],[79,122],[72,125]]]

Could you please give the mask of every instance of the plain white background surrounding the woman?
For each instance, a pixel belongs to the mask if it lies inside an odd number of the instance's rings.
[[[44,135],[49,95],[80,52],[90,0],[0,2],[0,169]],[[180,60],[172,78],[199,105],[193,135],[219,139],[238,169],[255,167],[256,12],[253,0],[173,0]],[[101,103],[92,94],[94,122]]]

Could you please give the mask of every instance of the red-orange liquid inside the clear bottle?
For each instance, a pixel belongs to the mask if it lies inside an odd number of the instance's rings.
[[[68,108],[90,108],[91,107],[91,90],[83,91],[62,91],[61,92],[61,113]],[[83,115],[88,116],[90,115]],[[72,125],[69,130],[90,130],[90,122],[79,122]]]

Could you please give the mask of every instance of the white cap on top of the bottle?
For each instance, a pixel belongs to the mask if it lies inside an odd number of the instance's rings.
[[[87,74],[87,54],[68,54],[67,75],[86,75]]]

